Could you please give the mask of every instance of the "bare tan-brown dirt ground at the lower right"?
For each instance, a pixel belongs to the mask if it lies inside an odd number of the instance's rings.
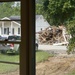
[[[59,54],[36,64],[36,75],[65,75],[75,70],[75,55]]]

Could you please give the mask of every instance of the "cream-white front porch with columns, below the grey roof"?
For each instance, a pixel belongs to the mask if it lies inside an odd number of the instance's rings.
[[[0,21],[0,35],[20,35],[21,27],[14,21]]]

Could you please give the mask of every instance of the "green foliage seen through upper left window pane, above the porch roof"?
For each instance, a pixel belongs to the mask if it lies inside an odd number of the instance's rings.
[[[0,18],[20,15],[20,5],[14,6],[14,2],[2,2],[0,4]]]

